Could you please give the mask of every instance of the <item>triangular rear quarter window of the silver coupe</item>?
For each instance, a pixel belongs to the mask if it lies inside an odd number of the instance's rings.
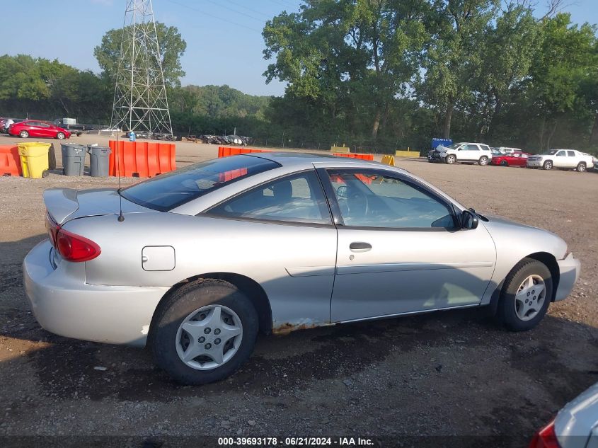
[[[209,209],[207,213],[222,217],[332,224],[315,171],[260,185]]]

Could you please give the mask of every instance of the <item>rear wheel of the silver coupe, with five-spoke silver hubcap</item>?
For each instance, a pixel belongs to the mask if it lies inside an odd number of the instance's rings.
[[[224,379],[246,362],[258,314],[234,285],[200,279],[168,297],[152,326],[156,364],[182,384],[199,385]]]

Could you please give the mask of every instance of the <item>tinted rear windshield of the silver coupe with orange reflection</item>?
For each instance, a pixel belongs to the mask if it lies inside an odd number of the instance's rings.
[[[224,157],[161,174],[120,190],[120,195],[144,207],[167,212],[236,180],[279,166],[253,156]]]

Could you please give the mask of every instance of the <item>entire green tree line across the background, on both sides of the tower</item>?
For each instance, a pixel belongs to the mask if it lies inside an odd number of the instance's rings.
[[[558,6],[559,0],[551,0]],[[156,23],[173,130],[258,144],[427,149],[432,137],[542,151],[598,149],[598,40],[529,0],[304,0],[265,24],[265,81],[280,97],[181,86],[185,40]],[[3,115],[108,125],[122,30],[94,49],[100,74],[0,57]]]

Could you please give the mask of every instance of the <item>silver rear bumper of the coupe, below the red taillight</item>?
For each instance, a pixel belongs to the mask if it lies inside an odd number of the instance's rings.
[[[50,241],[23,261],[23,284],[35,318],[51,333],[102,343],[144,346],[168,287],[88,285],[85,263],[50,263]]]

